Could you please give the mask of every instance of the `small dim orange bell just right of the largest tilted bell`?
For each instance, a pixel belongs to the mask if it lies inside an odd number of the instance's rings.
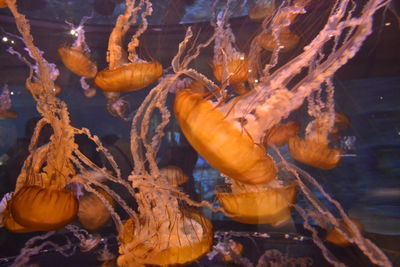
[[[278,123],[269,129],[264,137],[264,146],[268,143],[276,146],[283,146],[288,143],[289,138],[296,136],[300,130],[300,124],[295,121],[287,123]]]

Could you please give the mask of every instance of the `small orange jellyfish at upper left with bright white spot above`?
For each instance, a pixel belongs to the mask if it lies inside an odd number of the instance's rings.
[[[82,77],[94,78],[97,74],[97,65],[89,57],[90,49],[85,42],[85,31],[83,29],[83,24],[87,19],[89,17],[84,17],[77,28],[72,27],[73,25],[67,22],[72,28],[71,34],[77,36],[77,39],[72,46],[60,46],[57,52],[70,71]]]

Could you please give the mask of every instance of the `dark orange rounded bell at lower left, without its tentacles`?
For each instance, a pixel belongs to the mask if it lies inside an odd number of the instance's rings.
[[[11,199],[14,220],[27,228],[53,231],[69,224],[77,215],[73,192],[40,186],[23,186]]]

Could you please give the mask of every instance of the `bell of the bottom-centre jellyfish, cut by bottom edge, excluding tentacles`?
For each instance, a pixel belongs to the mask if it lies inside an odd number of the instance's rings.
[[[134,247],[129,245],[134,242],[137,227],[128,219],[119,235],[118,266],[186,265],[205,255],[213,243],[211,222],[194,210],[181,210],[180,215],[175,223],[167,220],[160,226],[165,232],[156,235],[161,240],[154,240],[153,246],[149,239]]]

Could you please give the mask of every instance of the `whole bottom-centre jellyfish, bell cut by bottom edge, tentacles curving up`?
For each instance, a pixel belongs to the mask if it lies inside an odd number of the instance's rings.
[[[139,213],[124,222],[119,231],[120,266],[183,265],[205,255],[212,246],[211,222],[198,211],[180,206],[180,200],[196,205],[157,167],[155,155],[167,125],[169,111],[164,105],[168,88],[178,75],[165,78],[151,90],[132,120],[131,151],[134,168],[128,177],[137,188]],[[150,135],[148,121],[155,110],[161,123]],[[146,150],[142,153],[141,148]],[[148,162],[148,168],[144,165]],[[178,201],[179,200],[179,201]],[[197,204],[198,205],[198,204]]]

